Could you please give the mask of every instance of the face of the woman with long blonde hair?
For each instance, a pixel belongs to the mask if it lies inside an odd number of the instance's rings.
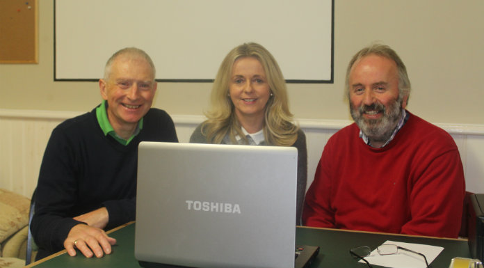
[[[234,62],[229,95],[240,121],[262,122],[270,94],[266,72],[257,58],[244,57]]]

